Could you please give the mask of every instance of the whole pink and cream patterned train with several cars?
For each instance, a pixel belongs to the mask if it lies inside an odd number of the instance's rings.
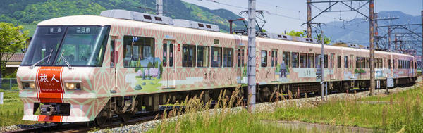
[[[109,10],[44,20],[18,68],[23,120],[95,122],[128,120],[140,110],[240,88],[247,97],[248,37],[190,20]],[[321,72],[329,91],[369,87],[369,50],[330,46],[278,34],[256,39],[257,101],[274,92],[316,93]],[[375,51],[378,86],[412,84],[416,58]]]

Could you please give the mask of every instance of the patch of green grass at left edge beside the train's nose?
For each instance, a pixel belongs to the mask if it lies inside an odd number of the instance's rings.
[[[0,126],[36,123],[22,120],[23,103],[19,99],[18,91],[0,91],[4,92],[4,104],[0,104]]]

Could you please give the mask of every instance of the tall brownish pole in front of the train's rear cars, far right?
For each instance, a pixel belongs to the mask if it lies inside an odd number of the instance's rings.
[[[369,0],[370,95],[374,95],[374,0]]]

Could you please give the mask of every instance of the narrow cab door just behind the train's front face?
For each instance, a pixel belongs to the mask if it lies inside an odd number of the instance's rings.
[[[116,50],[116,37],[111,37],[110,40],[110,92],[111,93],[116,93],[116,86],[117,86],[117,66],[116,64],[118,63],[118,51]]]

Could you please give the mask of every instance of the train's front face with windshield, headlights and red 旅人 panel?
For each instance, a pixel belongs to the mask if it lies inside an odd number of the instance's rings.
[[[109,101],[110,26],[38,26],[18,68],[23,120],[86,122]]]

